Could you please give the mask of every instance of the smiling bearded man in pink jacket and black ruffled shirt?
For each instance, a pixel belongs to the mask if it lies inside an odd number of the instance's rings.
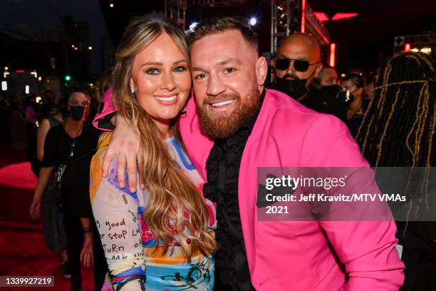
[[[205,19],[188,43],[194,98],[180,118],[180,131],[192,163],[207,180],[204,196],[217,203],[216,289],[289,290],[292,285],[295,290],[398,290],[404,265],[395,251],[392,218],[256,218],[258,167],[368,168],[346,126],[264,88],[266,59],[259,57],[257,36],[244,22]],[[113,108],[106,108],[98,124],[111,112]],[[104,176],[114,155],[118,173],[124,173],[126,160],[128,169],[137,164],[140,142],[131,120],[116,115]],[[129,178],[129,187],[136,188],[136,178]],[[124,185],[125,176],[118,180]]]

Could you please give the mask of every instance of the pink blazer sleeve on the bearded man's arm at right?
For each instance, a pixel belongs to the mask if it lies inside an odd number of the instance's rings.
[[[317,165],[311,165],[313,153],[317,153]],[[368,167],[348,128],[332,116],[314,121],[304,138],[301,165],[316,167],[319,161],[331,167]],[[378,189],[375,183],[362,187]],[[398,240],[393,219],[320,224],[346,267],[345,290],[398,290],[403,285],[405,266],[395,250]]]

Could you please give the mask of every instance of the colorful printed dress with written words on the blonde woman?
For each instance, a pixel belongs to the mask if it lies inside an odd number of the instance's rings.
[[[150,193],[137,187],[136,193],[118,185],[116,158],[110,165],[108,178],[102,178],[102,164],[111,133],[100,142],[90,165],[90,200],[95,223],[108,261],[110,275],[103,290],[210,290],[214,286],[214,259],[200,253],[182,255],[180,247],[162,253],[145,224],[142,213]],[[170,155],[200,191],[204,181],[195,170],[175,138],[166,140]],[[126,174],[127,175],[127,174]],[[126,177],[127,180],[127,177]],[[209,210],[209,231],[216,228],[214,203],[206,200]],[[160,249],[160,250],[159,250]],[[144,282],[145,279],[145,282]],[[113,286],[113,287],[112,287]]]

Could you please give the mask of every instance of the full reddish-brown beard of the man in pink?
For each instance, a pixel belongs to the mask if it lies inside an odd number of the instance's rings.
[[[233,101],[235,107],[230,115],[209,110],[209,104],[231,99],[235,99]],[[244,100],[244,103],[242,103],[239,94],[230,93],[219,96],[207,96],[201,105],[196,102],[195,106],[197,107],[202,131],[212,138],[229,138],[234,135],[259,110],[259,89],[254,87],[247,93]]]

